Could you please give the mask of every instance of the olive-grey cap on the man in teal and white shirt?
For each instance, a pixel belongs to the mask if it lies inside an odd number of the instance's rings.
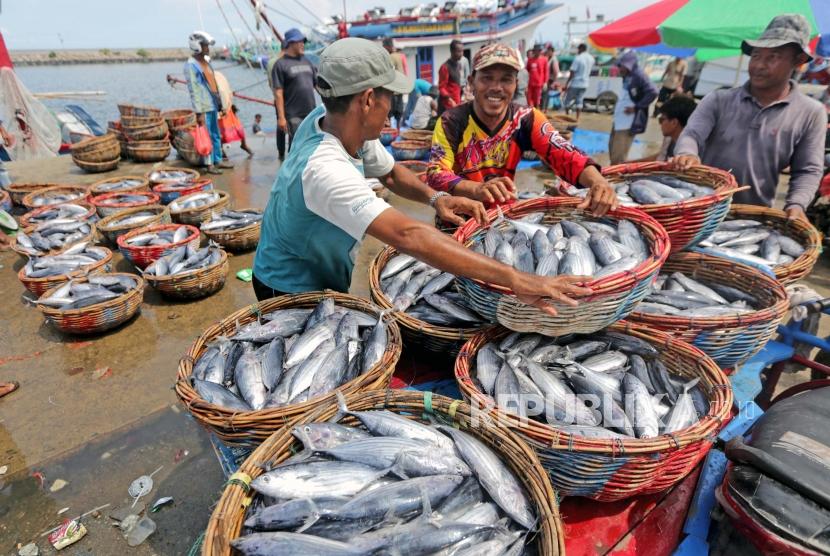
[[[395,70],[389,53],[376,42],[357,37],[334,41],[320,54],[318,78],[329,88],[317,87],[323,97],[342,97],[383,87],[395,94],[412,91],[414,79]]]

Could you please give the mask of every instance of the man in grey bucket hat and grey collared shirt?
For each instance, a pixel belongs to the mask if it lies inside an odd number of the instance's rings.
[[[758,40],[745,40],[749,80],[713,91],[698,106],[675,149],[673,165],[706,164],[730,170],[740,184],[735,203],[771,207],[781,171],[790,167],[784,210],[807,220],[824,170],[827,113],[798,90],[795,70],[812,59],[811,27],[800,14],[775,17]]]

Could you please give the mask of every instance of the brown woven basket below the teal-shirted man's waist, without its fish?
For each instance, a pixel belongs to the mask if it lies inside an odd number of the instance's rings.
[[[263,313],[270,313],[277,309],[316,307],[326,297],[333,298],[338,305],[358,309],[375,317],[381,314],[380,308],[360,297],[333,291],[308,292],[283,295],[255,303],[227,316],[205,330],[179,361],[178,379],[175,384],[176,395],[196,421],[224,442],[254,446],[267,439],[274,430],[287,425],[314,408],[322,404],[333,404],[335,395],[332,391],[299,404],[260,411],[235,412],[205,402],[190,384],[193,363],[204,351],[205,346],[217,337],[233,335],[237,327],[256,320]],[[389,386],[392,372],[401,356],[401,333],[392,319],[388,320],[387,331],[386,352],[381,360],[366,373],[341,385],[338,390],[343,394],[377,390]]]

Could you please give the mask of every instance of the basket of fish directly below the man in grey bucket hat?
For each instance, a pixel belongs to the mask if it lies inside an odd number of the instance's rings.
[[[801,280],[821,254],[821,234],[778,209],[732,205],[729,216],[700,243],[704,252],[774,272],[782,284]]]

